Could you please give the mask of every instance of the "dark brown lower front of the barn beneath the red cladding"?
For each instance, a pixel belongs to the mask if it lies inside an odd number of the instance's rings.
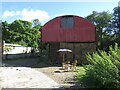
[[[51,44],[51,60],[54,63],[62,64],[63,60],[63,52],[56,52],[60,48],[67,48],[72,50],[72,53],[68,52],[66,53],[65,61],[70,61],[71,63],[74,60],[78,60],[78,64],[88,64],[88,61],[86,59],[86,54],[93,53],[96,51],[96,45],[95,43],[54,43]]]

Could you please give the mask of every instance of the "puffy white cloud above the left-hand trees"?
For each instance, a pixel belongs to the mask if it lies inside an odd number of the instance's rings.
[[[19,19],[31,21],[33,19],[39,19],[40,21],[48,19],[50,16],[46,11],[33,10],[24,8],[22,11],[4,11],[3,18],[10,16],[17,16]]]

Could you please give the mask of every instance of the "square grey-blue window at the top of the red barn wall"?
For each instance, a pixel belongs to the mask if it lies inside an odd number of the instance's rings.
[[[74,18],[73,16],[63,16],[61,18],[61,28],[73,28]]]

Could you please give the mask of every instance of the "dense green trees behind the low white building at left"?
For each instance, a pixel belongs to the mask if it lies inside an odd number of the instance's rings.
[[[2,22],[3,40],[8,43],[38,47],[40,41],[40,25],[36,25],[38,26],[33,27],[31,22],[24,20],[15,20],[11,24]]]

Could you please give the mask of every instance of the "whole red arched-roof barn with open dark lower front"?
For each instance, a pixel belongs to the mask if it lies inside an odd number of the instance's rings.
[[[78,59],[79,63],[87,63],[85,52],[95,51],[95,25],[79,16],[56,17],[42,27],[42,41],[49,42],[52,62],[60,63],[61,57],[56,51],[68,48],[73,53],[67,55],[66,60]]]

